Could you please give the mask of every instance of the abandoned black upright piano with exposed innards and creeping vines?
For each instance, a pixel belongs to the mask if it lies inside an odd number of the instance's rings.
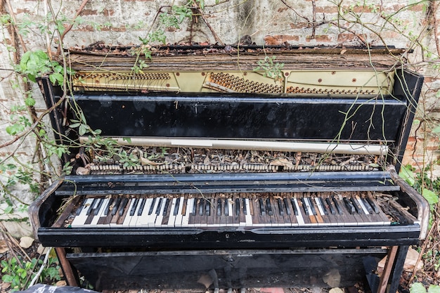
[[[397,175],[423,80],[401,51],[150,49],[39,80],[71,173],[30,214],[70,285],[396,292],[429,217]]]

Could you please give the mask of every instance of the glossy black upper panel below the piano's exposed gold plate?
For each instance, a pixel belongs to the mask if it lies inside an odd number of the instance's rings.
[[[389,97],[77,94],[75,101],[92,129],[128,137],[396,141],[407,110],[405,102]]]

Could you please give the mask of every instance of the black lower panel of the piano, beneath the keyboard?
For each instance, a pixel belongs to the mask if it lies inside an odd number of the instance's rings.
[[[363,279],[365,259],[385,254],[384,249],[254,249],[85,253],[67,254],[67,259],[100,290],[227,289],[349,287]],[[334,282],[324,282],[326,274]]]

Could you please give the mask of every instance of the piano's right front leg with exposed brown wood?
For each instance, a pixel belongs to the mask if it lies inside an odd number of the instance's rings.
[[[380,277],[377,293],[387,292],[387,285],[390,276],[392,278],[389,284],[389,293],[396,293],[397,288],[399,287],[407,252],[408,246],[393,246],[389,249],[384,271]]]

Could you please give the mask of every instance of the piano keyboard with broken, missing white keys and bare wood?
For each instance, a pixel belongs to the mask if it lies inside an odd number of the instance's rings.
[[[398,222],[365,193],[231,193],[84,197],[70,228],[385,226]]]

